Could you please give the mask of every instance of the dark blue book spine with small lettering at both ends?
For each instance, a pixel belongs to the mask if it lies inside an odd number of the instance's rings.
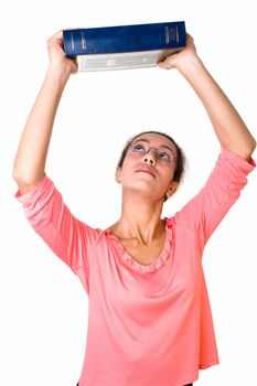
[[[63,31],[67,56],[168,50],[185,46],[183,21]]]

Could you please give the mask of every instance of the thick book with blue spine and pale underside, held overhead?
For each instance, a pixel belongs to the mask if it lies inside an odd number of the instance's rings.
[[[71,29],[63,31],[63,42],[79,72],[151,67],[183,50],[185,22]]]

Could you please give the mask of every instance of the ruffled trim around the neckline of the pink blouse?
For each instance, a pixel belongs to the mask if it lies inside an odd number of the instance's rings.
[[[171,257],[171,245],[173,242],[173,221],[172,218],[164,217],[165,221],[165,242],[164,246],[159,255],[159,257],[156,259],[154,262],[151,265],[144,266],[137,260],[135,260],[129,253],[125,249],[120,240],[118,239],[117,236],[113,235],[109,229],[104,230],[104,234],[109,237],[110,239],[114,239],[117,246],[117,249],[120,253],[121,258],[128,265],[130,268],[133,270],[141,272],[141,274],[147,274],[147,272],[153,272],[160,269],[167,261],[169,257]]]

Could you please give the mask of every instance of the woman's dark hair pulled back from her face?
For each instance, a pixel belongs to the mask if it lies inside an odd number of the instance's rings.
[[[174,171],[174,175],[173,175],[173,181],[176,181],[176,182],[180,183],[181,180],[184,176],[184,171],[185,171],[185,154],[184,154],[183,150],[181,149],[181,147],[174,141],[174,139],[171,138],[165,132],[153,131],[153,130],[142,131],[142,132],[133,136],[132,138],[130,138],[127,141],[127,143],[125,144],[124,150],[121,151],[121,154],[120,154],[120,158],[119,158],[117,167],[122,168],[124,160],[125,160],[125,157],[127,154],[127,151],[128,151],[130,144],[135,141],[136,138],[138,138],[138,137],[140,137],[141,135],[144,135],[144,133],[156,133],[156,135],[163,136],[163,137],[168,138],[174,144],[174,147],[176,149],[178,157],[176,157],[176,162],[175,162],[176,167],[175,167],[175,171]],[[167,196],[164,196],[164,202],[165,201],[167,201]]]

